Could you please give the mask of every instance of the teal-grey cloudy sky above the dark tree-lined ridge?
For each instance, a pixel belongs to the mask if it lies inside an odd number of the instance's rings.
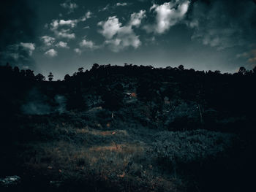
[[[0,64],[54,79],[94,63],[256,66],[256,0],[2,0]]]

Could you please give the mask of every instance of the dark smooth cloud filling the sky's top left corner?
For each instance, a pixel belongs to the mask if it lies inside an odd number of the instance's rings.
[[[0,12],[0,49],[29,39],[34,41],[37,15],[31,4],[26,0],[1,1]]]

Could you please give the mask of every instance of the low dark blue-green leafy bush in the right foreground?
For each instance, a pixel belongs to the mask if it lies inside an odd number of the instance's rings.
[[[214,161],[233,145],[233,134],[195,130],[163,131],[157,134],[154,153],[157,160],[170,168],[184,164]]]

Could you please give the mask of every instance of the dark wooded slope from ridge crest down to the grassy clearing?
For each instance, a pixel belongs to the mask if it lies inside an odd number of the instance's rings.
[[[52,103],[54,96],[64,95],[67,110],[86,110],[89,106],[119,110],[124,107],[126,93],[135,93],[138,101],[154,106],[151,107],[152,116],[162,111],[166,102],[175,107],[181,100],[195,102],[201,115],[206,109],[213,109],[227,115],[253,118],[252,111],[255,110],[256,67],[252,70],[240,67],[236,73],[222,74],[184,69],[182,65],[154,68],[94,64],[90,70],[81,67],[72,76],[67,74],[64,80],[53,81],[51,72],[46,80],[42,74],[35,75],[30,69],[20,70],[7,64],[0,66],[0,78],[1,101],[8,110],[12,108],[10,106],[18,106],[34,87]],[[89,100],[93,104],[89,104]]]

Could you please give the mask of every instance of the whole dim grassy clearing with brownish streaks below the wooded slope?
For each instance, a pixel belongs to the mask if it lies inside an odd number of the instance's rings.
[[[23,178],[23,189],[197,191],[206,181],[198,175],[215,176],[218,168],[219,177],[233,158],[233,134],[163,131],[106,114],[103,120],[97,112],[20,118],[14,173]]]

